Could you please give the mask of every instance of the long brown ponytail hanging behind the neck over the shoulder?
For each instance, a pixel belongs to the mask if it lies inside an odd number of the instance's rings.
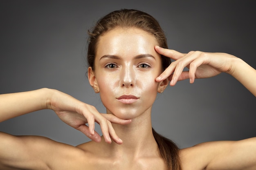
[[[155,141],[157,142],[159,152],[166,162],[167,170],[182,170],[179,157],[179,148],[177,145],[170,139],[159,135],[153,128],[152,131]]]

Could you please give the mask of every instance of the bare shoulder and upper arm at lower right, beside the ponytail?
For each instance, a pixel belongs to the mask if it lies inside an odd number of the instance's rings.
[[[256,138],[211,141],[180,150],[183,170],[254,170]]]

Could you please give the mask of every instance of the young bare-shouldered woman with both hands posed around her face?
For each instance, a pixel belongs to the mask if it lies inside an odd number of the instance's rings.
[[[225,72],[256,96],[254,68],[226,53],[184,54],[167,49],[157,21],[137,10],[114,11],[101,18],[89,34],[88,79],[107,114],[70,95],[43,88],[0,95],[0,121],[52,109],[92,141],[74,147],[45,137],[1,132],[1,170],[256,169],[256,138],[179,150],[152,129],[150,117],[157,93],[169,81],[171,86],[183,79],[193,83],[195,78]],[[183,71],[184,67],[189,71]],[[94,131],[94,122],[101,126],[102,137]]]

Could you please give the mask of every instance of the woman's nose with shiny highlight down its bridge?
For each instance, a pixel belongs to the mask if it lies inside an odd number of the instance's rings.
[[[121,69],[120,86],[132,87],[135,85],[135,71],[132,66],[125,66]]]

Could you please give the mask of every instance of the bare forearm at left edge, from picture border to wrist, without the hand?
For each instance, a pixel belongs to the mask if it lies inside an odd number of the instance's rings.
[[[0,122],[47,108],[51,90],[41,88],[34,91],[0,95]]]

